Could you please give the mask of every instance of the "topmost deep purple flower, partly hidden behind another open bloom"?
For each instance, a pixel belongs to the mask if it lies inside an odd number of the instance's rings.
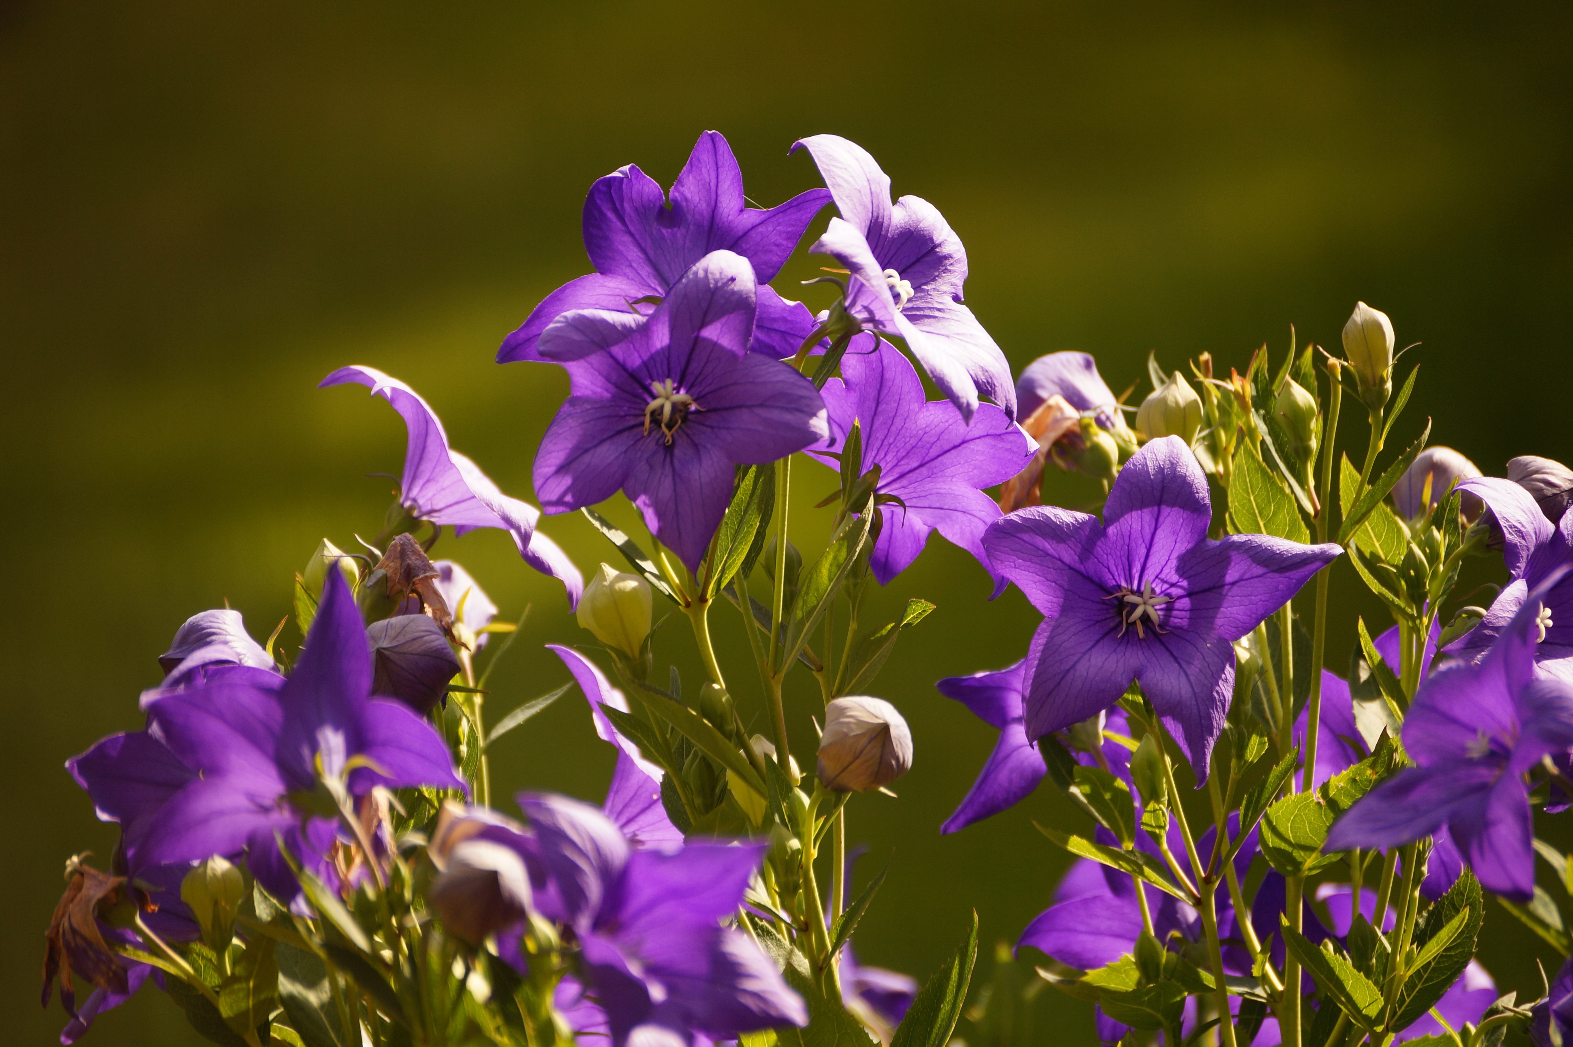
[[[804,230],[831,193],[810,189],[779,208],[744,206],[742,171],[731,146],[714,130],[700,135],[672,186],[672,201],[648,174],[629,163],[596,181],[585,200],[585,250],[595,272],[552,291],[519,330],[503,340],[497,363],[544,360],[541,333],[573,310],[631,313],[634,303],[664,297],[700,258],[736,252],[760,285],[775,278]],[[753,351],[790,357],[813,330],[809,310],[760,286]]]

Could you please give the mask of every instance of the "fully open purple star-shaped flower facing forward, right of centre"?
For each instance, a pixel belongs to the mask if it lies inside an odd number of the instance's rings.
[[[1033,506],[989,527],[989,563],[1044,616],[1027,652],[1029,739],[1096,715],[1134,679],[1206,778],[1235,685],[1232,641],[1342,552],[1266,535],[1213,541],[1211,519],[1195,456],[1164,437],[1120,470],[1104,524]]]

